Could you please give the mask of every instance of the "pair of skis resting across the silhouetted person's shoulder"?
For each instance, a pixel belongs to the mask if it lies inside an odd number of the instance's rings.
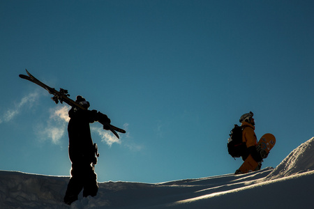
[[[26,69],[25,69],[26,70]],[[19,75],[20,78],[22,79],[27,79],[30,82],[33,82],[34,84],[37,84],[38,86],[41,86],[43,88],[45,88],[50,94],[54,95],[52,97],[52,100],[54,100],[54,102],[56,102],[56,104],[58,104],[59,102],[62,104],[63,102],[66,102],[66,104],[69,104],[71,107],[78,107],[80,109],[86,109],[84,107],[82,107],[82,105],[77,104],[77,102],[71,100],[70,98],[68,98],[70,95],[68,94],[68,90],[65,90],[63,88],[60,88],[60,91],[57,91],[54,88],[51,88],[50,86],[47,86],[46,84],[44,84],[43,82],[40,82],[40,80],[36,79],[36,77],[33,77],[33,75],[31,75],[31,73],[29,73],[29,71],[27,71],[27,75]],[[107,124],[104,123],[102,121],[98,121],[99,123],[103,124],[106,127],[109,127],[110,131],[119,139],[119,134],[117,134],[117,132],[121,132],[121,133],[126,133],[125,130],[119,128],[119,127],[115,127],[114,125],[111,124]],[[117,131],[117,132],[116,132]]]

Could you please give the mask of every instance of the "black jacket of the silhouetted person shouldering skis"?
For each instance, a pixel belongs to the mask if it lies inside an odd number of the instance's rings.
[[[68,123],[68,153],[72,163],[91,163],[95,157],[95,148],[91,139],[89,123],[95,121],[106,121],[110,119],[105,114],[96,110],[83,110],[72,108],[68,112],[70,121]]]

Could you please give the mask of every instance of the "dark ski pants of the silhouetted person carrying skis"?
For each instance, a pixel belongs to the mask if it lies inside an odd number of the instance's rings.
[[[73,202],[83,190],[83,196],[96,196],[98,192],[97,175],[91,164],[73,163],[70,171],[71,178],[66,189],[65,202]]]

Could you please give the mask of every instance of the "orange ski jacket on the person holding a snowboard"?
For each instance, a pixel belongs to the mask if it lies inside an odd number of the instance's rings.
[[[256,150],[257,137],[255,135],[255,127],[251,123],[243,122],[241,126],[245,126],[242,132],[242,141],[246,144],[246,152],[242,155],[242,159],[246,160],[248,155],[252,155],[256,162],[261,162],[262,157]]]

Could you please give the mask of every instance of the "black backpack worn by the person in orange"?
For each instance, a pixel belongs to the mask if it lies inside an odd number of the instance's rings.
[[[242,142],[242,131],[246,126],[234,125],[230,131],[230,138],[228,139],[227,148],[228,153],[232,157],[241,157],[246,151],[246,144]]]

